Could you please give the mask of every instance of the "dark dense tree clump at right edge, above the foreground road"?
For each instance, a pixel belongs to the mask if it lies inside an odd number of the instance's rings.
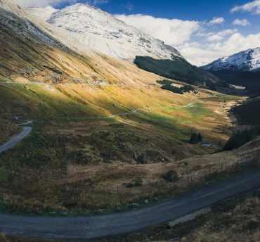
[[[230,136],[230,139],[224,146],[224,151],[232,151],[234,148],[240,148],[247,142],[252,141],[256,136],[260,135],[260,126],[251,127],[244,130],[238,130],[237,132],[233,132]]]

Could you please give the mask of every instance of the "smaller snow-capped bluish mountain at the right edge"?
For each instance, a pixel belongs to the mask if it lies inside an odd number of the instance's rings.
[[[208,65],[202,66],[204,70],[217,72],[220,70],[232,70],[239,72],[260,71],[260,48],[248,49],[235,53],[233,56],[223,57]]]

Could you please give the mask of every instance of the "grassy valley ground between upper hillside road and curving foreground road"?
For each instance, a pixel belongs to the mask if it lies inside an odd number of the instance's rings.
[[[188,189],[192,177],[200,184],[207,179],[207,172],[220,171],[219,159],[223,169],[238,159],[233,152],[225,158],[222,153],[210,155],[228,139],[234,120],[225,107],[239,101],[236,96],[204,89],[179,95],[156,84],[0,87],[8,117],[34,122],[30,137],[0,156],[9,174],[1,182],[1,193],[11,210],[109,211],[117,205],[169,193],[171,184],[159,179],[167,170],[183,176],[172,184],[180,186],[178,193]],[[217,112],[219,106],[223,106],[221,113]],[[201,132],[212,147],[189,144],[194,131]],[[127,184],[138,177],[143,185],[128,188]]]

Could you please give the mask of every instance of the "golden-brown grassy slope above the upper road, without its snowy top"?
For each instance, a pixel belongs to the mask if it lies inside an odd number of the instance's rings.
[[[18,16],[12,18],[20,23],[20,29],[26,30],[25,20]],[[37,42],[28,39],[37,39]],[[53,46],[5,24],[0,28],[0,56],[2,82],[153,84],[160,79],[133,63],[97,53],[77,53],[62,45]]]

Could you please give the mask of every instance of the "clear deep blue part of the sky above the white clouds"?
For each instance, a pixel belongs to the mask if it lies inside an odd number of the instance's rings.
[[[88,3],[90,1],[77,1]],[[259,32],[260,17],[259,15],[249,15],[248,13],[230,13],[230,9],[234,6],[247,4],[247,0],[109,0],[107,3],[95,4],[96,7],[103,11],[115,14],[143,14],[151,15],[155,18],[177,18],[180,20],[212,20],[216,16],[221,16],[226,20],[226,27],[232,27],[233,20],[236,18],[248,18],[252,25],[247,28],[241,28],[245,33]],[[93,1],[92,1],[93,3]],[[56,4],[56,8],[64,8],[70,5],[70,1]]]

